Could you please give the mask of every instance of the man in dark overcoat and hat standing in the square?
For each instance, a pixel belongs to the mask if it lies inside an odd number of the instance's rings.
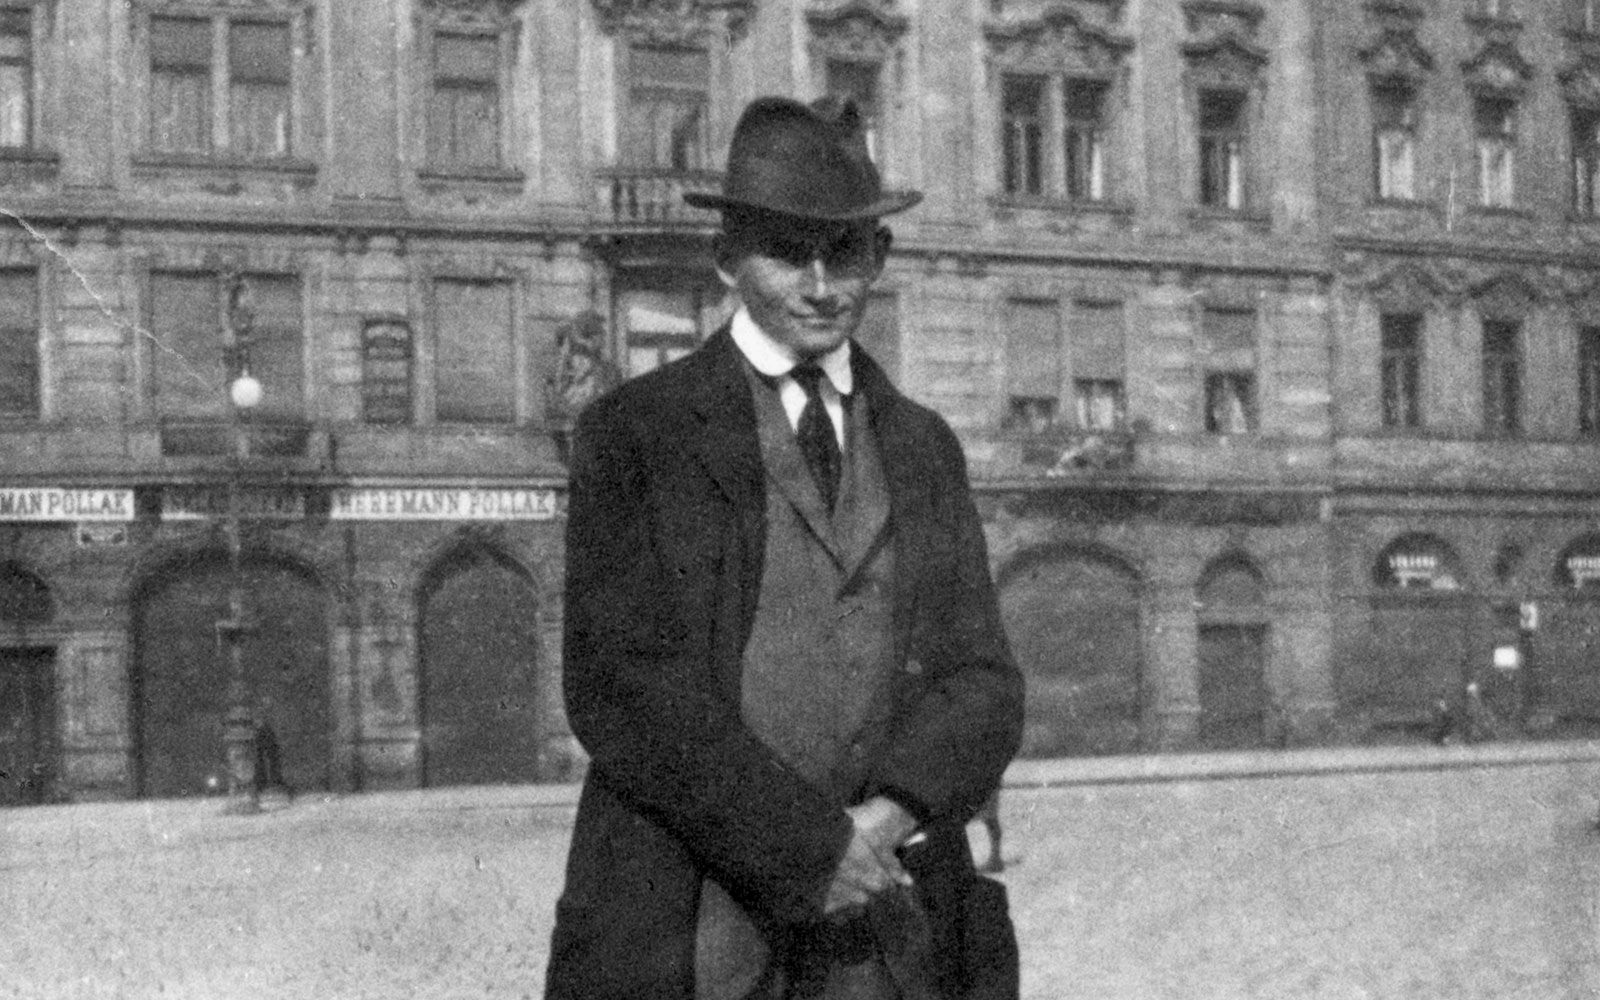
[[[547,997],[1014,990],[965,824],[1022,682],[955,435],[853,341],[885,192],[856,109],[739,118],[717,267],[739,309],[578,422],[565,694],[590,755]]]

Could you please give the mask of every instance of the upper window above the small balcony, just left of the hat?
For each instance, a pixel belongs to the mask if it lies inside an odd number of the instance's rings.
[[[630,166],[690,171],[707,160],[710,56],[696,48],[629,50],[622,155]]]

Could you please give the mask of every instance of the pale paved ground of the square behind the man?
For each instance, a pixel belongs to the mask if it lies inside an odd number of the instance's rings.
[[[1013,768],[1024,995],[1600,997],[1594,754],[1264,760]],[[571,802],[3,811],[0,998],[536,998]]]

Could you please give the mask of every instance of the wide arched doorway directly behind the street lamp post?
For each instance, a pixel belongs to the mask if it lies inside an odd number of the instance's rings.
[[[253,717],[272,726],[283,778],[296,792],[330,787],[331,698],[326,598],[301,566],[246,558],[240,566],[246,630],[240,656]],[[134,704],[139,794],[152,798],[226,790],[227,651],[232,571],[205,552],[155,573],[134,600]]]

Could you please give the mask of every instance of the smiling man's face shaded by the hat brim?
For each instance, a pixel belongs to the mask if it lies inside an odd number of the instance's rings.
[[[888,246],[890,230],[872,219],[730,218],[717,266],[750,318],[805,360],[856,331]]]

